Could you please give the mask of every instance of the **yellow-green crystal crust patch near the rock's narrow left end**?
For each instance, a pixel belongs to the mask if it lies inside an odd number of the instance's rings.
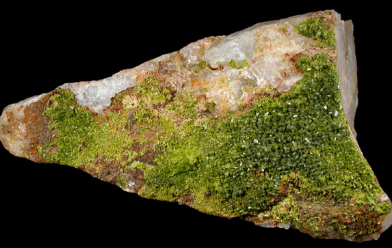
[[[124,134],[127,119],[111,112],[104,120],[79,107],[69,89],[57,89],[47,103],[43,115],[50,117],[49,129],[55,133],[47,148],[38,148],[49,163],[79,167],[92,166],[97,154],[106,159],[125,163],[135,156],[131,151],[133,139]],[[123,157],[126,161],[123,161]]]

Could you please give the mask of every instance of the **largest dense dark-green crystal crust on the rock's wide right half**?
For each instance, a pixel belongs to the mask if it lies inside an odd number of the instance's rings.
[[[168,139],[158,166],[144,170],[142,195],[190,195],[203,212],[243,216],[272,206],[295,173],[315,199],[369,198],[384,214],[388,204],[377,204],[382,190],[345,122],[335,66],[324,54],[303,55],[298,66],[304,78],[288,94],[263,94],[241,115]]]

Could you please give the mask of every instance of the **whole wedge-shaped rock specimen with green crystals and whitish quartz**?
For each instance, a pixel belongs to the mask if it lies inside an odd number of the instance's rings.
[[[356,91],[352,22],[315,12],[9,105],[0,139],[142,197],[361,242],[392,217],[356,143]]]

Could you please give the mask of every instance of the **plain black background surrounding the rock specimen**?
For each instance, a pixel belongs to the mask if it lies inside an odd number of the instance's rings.
[[[372,4],[373,3],[373,4]],[[344,3],[67,3],[3,5],[0,109],[63,83],[103,79],[207,36],[266,20],[334,9],[354,22],[358,143],[384,191],[390,179],[391,25],[386,6]],[[369,3],[368,3],[369,4]],[[142,199],[62,165],[20,159],[1,148],[1,238],[14,244],[255,245],[387,247],[392,230],[361,244],[259,228],[179,204]]]

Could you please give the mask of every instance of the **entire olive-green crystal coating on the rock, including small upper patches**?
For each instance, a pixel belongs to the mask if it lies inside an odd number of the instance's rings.
[[[315,16],[293,28],[334,51],[333,24]],[[290,61],[303,77],[288,92],[270,85],[222,115],[205,97],[208,88],[191,94],[157,72],[138,77],[103,113],[79,105],[70,89],[56,89],[45,96],[40,118],[48,133],[36,143],[36,160],[210,215],[291,225],[319,238],[380,233],[391,202],[382,200],[350,132],[334,59],[319,52]],[[250,63],[232,59],[228,66],[240,71]],[[190,70],[211,68],[200,60]]]

